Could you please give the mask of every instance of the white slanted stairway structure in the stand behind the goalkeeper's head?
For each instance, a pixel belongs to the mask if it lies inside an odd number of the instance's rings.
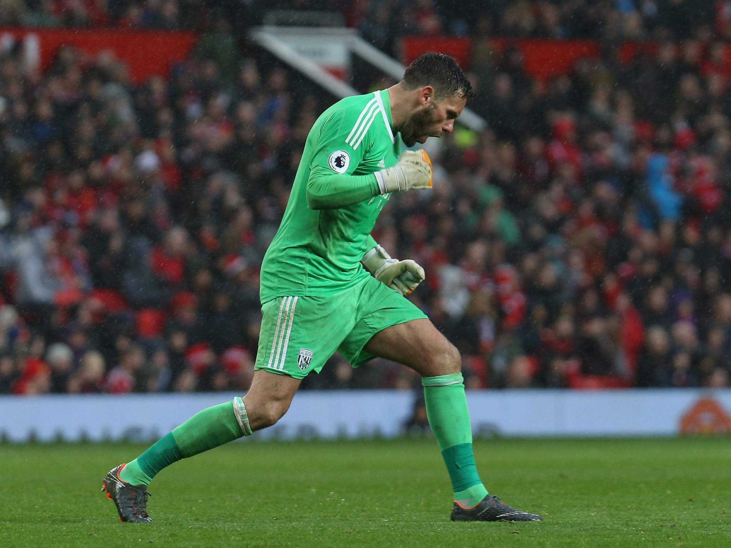
[[[254,43],[340,98],[359,95],[360,91],[333,75],[336,71],[327,69],[328,61],[338,64],[339,60],[349,64],[347,56],[355,53],[396,80],[401,80],[406,70],[406,66],[366,42],[352,28],[260,26],[251,29],[249,37]],[[458,122],[475,132],[482,132],[488,127],[484,118],[469,108],[462,111]]]

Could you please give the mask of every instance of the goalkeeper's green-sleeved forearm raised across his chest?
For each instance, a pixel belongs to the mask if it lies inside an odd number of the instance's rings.
[[[307,205],[311,209],[343,208],[380,193],[378,181],[368,175],[341,175],[312,170],[307,181]]]

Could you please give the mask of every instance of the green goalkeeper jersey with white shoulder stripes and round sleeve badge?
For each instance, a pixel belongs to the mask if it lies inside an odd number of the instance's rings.
[[[360,264],[389,195],[374,172],[398,161],[388,92],[341,99],[307,137],[279,230],[262,262],[260,299],[325,296],[370,275]]]

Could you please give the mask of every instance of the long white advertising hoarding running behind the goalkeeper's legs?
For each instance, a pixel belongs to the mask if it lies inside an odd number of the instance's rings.
[[[467,393],[477,435],[641,436],[731,433],[731,390],[484,390]],[[0,397],[0,439],[151,441],[202,408],[236,394]],[[400,435],[416,393],[300,392],[257,438],[385,438]],[[134,409],[134,413],[129,410]]]

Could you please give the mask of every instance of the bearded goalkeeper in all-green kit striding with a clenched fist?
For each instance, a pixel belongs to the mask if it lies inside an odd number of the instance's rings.
[[[454,59],[427,53],[398,84],[342,99],[317,119],[262,263],[262,327],[251,389],[200,411],[107,473],[104,489],[121,520],[151,521],[146,487],[165,466],[276,423],[302,379],[319,373],[336,351],[353,367],[383,357],[423,377],[429,424],[452,480],[452,520],[540,520],[482,484],[461,357],[404,298],[424,281],[424,269],[393,259],[371,237],[393,192],[432,186],[426,153],[400,155],[400,141],[412,147],[452,132],[471,95]]]

